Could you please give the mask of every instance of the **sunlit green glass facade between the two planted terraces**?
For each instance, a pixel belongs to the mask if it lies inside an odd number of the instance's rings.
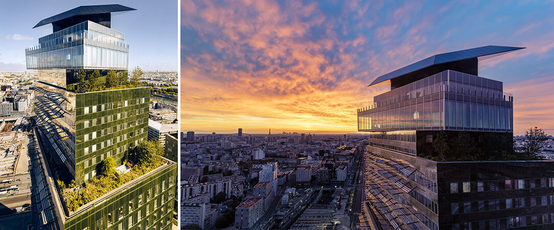
[[[106,157],[117,163],[148,137],[150,89],[133,88],[76,94],[76,151],[85,179]]]

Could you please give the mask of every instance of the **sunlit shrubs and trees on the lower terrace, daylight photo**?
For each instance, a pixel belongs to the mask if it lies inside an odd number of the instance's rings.
[[[117,172],[117,163],[112,157],[107,157],[100,162],[96,170],[96,176],[88,181],[83,180],[82,168],[78,168],[75,173],[75,180],[68,186],[58,181],[67,208],[74,212],[86,203],[162,166],[165,163],[161,158],[162,155],[163,147],[160,144],[155,141],[142,141],[129,151],[129,159],[132,159],[126,162],[127,165],[132,167],[129,172],[124,174]]]

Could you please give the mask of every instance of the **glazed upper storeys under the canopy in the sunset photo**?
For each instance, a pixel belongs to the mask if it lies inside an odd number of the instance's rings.
[[[377,95],[358,110],[358,130],[512,132],[511,94],[500,81],[446,70]]]

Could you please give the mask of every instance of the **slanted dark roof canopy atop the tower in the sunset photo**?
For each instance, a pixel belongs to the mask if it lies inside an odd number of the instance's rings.
[[[500,47],[488,45],[472,49],[464,49],[450,53],[433,55],[419,62],[394,70],[388,74],[379,76],[368,86],[391,84],[391,89],[396,89],[440,73],[444,70],[455,70],[472,75],[478,75],[478,62],[496,57],[498,55],[514,52],[524,47]]]

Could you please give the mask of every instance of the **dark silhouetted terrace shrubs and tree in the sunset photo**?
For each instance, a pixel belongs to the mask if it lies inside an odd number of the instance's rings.
[[[468,132],[458,132],[457,136],[448,136],[440,131],[433,140],[435,156],[423,155],[434,161],[523,161],[542,160],[542,145],[547,135],[542,129],[531,128],[525,132],[525,144],[515,146],[511,133],[496,135],[483,132],[478,137]]]

